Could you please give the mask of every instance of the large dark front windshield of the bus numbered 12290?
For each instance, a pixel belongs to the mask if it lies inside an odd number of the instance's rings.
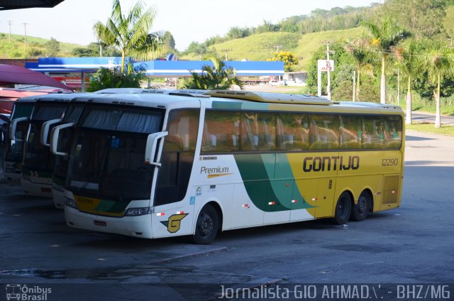
[[[145,164],[150,133],[163,111],[90,106],[75,133],[65,187],[74,195],[129,202],[150,197],[153,168]]]

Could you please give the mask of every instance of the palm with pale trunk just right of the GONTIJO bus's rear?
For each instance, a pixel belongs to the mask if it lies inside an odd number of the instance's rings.
[[[406,114],[405,123],[411,124],[411,79],[417,78],[423,73],[423,59],[421,51],[426,49],[424,40],[406,40],[399,47],[392,48],[398,61],[399,69],[402,70],[407,80]]]

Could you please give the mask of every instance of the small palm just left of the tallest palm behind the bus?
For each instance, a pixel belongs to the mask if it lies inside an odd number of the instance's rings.
[[[345,51],[350,53],[355,60],[355,69],[358,72],[358,77],[356,77],[356,91],[355,97],[359,98],[360,94],[360,82],[361,82],[361,73],[364,72],[366,75],[374,75],[373,66],[372,66],[372,57],[370,52],[367,51],[367,40],[347,40],[344,46]]]

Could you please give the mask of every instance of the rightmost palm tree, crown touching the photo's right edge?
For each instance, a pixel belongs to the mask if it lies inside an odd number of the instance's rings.
[[[436,98],[435,127],[441,127],[440,113],[440,83],[443,76],[452,74],[454,71],[453,50],[450,48],[436,48],[431,50],[426,58],[428,77],[431,82],[437,83],[436,91],[433,93]]]

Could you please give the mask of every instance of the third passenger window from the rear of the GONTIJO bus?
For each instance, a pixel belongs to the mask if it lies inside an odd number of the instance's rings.
[[[339,145],[341,148],[361,148],[361,119],[355,115],[339,116]]]

